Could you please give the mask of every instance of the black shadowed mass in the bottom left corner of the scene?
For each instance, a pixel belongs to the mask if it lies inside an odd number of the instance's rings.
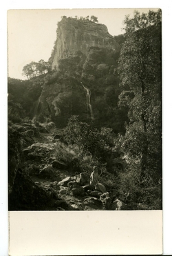
[[[56,210],[57,206],[64,208],[63,204],[67,205],[63,199],[57,197],[53,188],[46,189],[35,184],[21,169],[17,171],[8,203],[9,210]]]

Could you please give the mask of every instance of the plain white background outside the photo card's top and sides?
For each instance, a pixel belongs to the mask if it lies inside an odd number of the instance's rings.
[[[23,8],[162,8],[162,24],[163,24],[163,207],[164,207],[164,255],[172,254],[171,247],[171,1],[63,1],[63,3],[52,3],[51,1],[5,1],[1,4],[0,10],[0,31],[1,31],[1,160],[6,160],[6,11],[8,9],[23,9]],[[5,39],[5,40],[4,40]],[[1,233],[0,233],[0,248],[1,255],[7,254],[7,175],[6,161],[3,161],[1,166],[0,177],[0,210],[1,210]]]

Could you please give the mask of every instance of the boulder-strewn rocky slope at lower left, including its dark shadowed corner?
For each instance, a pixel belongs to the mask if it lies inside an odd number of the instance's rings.
[[[87,173],[71,171],[67,162],[54,157],[65,142],[53,123],[13,124],[8,134],[9,210],[127,209],[116,191],[94,190]]]

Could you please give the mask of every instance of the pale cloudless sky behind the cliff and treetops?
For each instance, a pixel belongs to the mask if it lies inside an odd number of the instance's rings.
[[[50,58],[56,40],[57,22],[61,16],[94,15],[111,35],[122,34],[122,21],[134,9],[58,9],[8,11],[8,76],[26,79],[21,75],[23,66],[31,61]],[[136,9],[135,9],[136,10]],[[137,9],[147,12],[149,9]]]

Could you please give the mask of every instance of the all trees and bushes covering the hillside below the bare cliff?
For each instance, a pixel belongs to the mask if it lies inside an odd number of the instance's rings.
[[[89,174],[98,166],[100,181],[118,190],[131,210],[161,209],[161,11],[134,12],[124,25],[125,35],[115,37],[120,52],[92,47],[87,56],[76,52],[61,59],[58,70],[32,62],[23,68],[29,80],[9,78],[8,119],[32,119],[39,107],[37,121],[54,121],[72,148],[56,148],[56,158]],[[82,84],[91,92],[94,120]]]

